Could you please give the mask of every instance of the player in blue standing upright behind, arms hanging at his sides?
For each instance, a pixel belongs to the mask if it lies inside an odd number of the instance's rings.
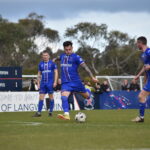
[[[49,60],[50,55],[47,51],[42,53],[42,60],[38,66],[38,87],[39,87],[39,104],[38,111],[33,117],[40,117],[43,107],[45,94],[49,95],[50,111],[49,116],[52,116],[54,108],[53,88],[57,85],[58,70],[56,64]]]

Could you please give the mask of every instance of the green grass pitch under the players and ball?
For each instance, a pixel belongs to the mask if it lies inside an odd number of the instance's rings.
[[[86,123],[32,118],[33,112],[0,113],[0,150],[123,150],[150,149],[150,110],[145,123],[132,123],[137,110],[83,111]]]

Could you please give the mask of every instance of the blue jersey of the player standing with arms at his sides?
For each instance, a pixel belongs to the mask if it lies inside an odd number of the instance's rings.
[[[49,60],[48,62],[41,61],[38,66],[38,71],[41,72],[41,83],[54,83],[54,70],[57,66],[54,62]]]

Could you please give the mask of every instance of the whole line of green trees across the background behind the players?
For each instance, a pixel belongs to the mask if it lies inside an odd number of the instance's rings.
[[[135,38],[121,31],[108,31],[106,24],[80,22],[68,27],[64,38],[78,44],[76,53],[95,75],[134,75],[142,65]],[[51,57],[56,57],[63,50],[54,51],[49,45],[60,40],[58,31],[45,27],[41,15],[30,13],[18,22],[0,16],[0,66],[21,66],[23,74],[36,74],[41,60],[39,45],[49,51]],[[84,71],[80,73],[87,77]]]

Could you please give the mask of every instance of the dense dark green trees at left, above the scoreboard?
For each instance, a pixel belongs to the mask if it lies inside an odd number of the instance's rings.
[[[47,44],[42,43],[44,38]],[[37,42],[38,41],[38,42]],[[58,42],[58,31],[45,28],[43,16],[31,13],[17,23],[0,18],[0,65],[23,66],[23,73],[37,72],[39,50]],[[39,49],[39,43],[43,46]]]

